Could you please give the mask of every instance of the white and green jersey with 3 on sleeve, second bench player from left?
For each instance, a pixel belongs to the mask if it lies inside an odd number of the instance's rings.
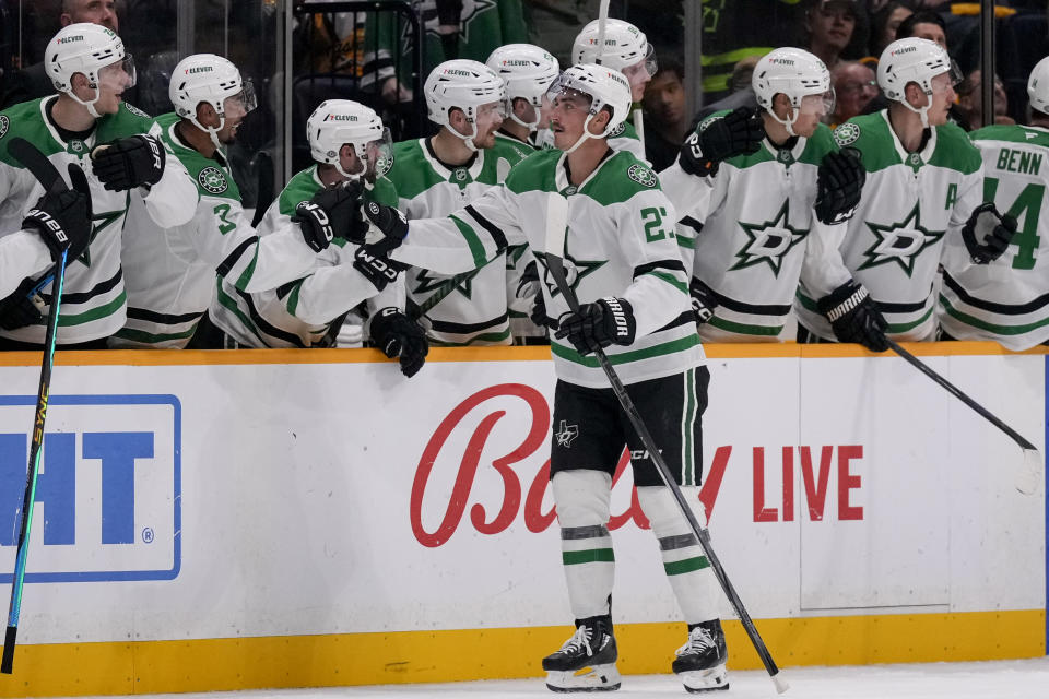
[[[195,214],[180,226],[161,229],[141,204],[131,202],[122,251],[128,322],[109,340],[113,347],[182,348],[208,310],[216,270],[241,292],[261,292],[299,279],[316,257],[291,220],[259,238],[227,161],[222,154],[205,157],[186,144],[176,133],[180,120],[167,114],[156,122],[165,146],[196,185],[195,201],[184,202]]]

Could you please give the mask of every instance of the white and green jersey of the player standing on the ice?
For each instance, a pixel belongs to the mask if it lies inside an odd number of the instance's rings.
[[[705,363],[688,299],[688,275],[674,232],[674,209],[659,179],[633,154],[610,151],[580,185],[570,185],[561,151],[543,151],[516,165],[504,187],[492,188],[470,206],[446,218],[412,221],[393,259],[455,274],[498,257],[508,246],[527,244],[534,254],[546,248],[546,215],[552,196],[568,200],[564,256],[568,282],[580,303],[604,296],[626,298],[637,319],[628,346],[605,350],[624,383],[680,374]],[[537,256],[540,269],[544,259]],[[568,310],[553,280],[544,277],[546,312]],[[592,355],[582,356],[565,340],[552,339],[558,378],[606,388],[608,378]]]

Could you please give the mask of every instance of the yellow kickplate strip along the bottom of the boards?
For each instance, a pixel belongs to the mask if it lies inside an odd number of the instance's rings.
[[[776,662],[861,665],[1046,654],[1045,609],[759,619]],[[729,667],[762,667],[724,621]],[[168,694],[540,677],[568,627],[19,645],[0,697]],[[616,626],[620,672],[670,672],[682,624]],[[463,659],[469,659],[463,662]]]

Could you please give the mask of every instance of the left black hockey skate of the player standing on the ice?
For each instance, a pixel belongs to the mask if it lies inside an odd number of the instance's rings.
[[[576,623],[576,632],[561,650],[543,659],[551,691],[611,691],[620,688],[618,650],[612,619],[596,616]]]

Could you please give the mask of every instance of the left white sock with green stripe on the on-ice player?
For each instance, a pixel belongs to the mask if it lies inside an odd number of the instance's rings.
[[[561,555],[568,603],[577,619],[609,613],[615,579],[615,555],[608,530],[611,487],[611,477],[602,471],[580,469],[554,475]]]

